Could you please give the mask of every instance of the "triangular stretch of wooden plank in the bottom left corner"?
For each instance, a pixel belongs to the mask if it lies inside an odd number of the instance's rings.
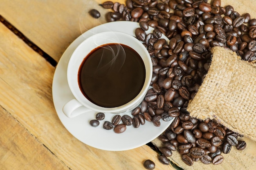
[[[0,120],[1,170],[69,170],[2,107]]]

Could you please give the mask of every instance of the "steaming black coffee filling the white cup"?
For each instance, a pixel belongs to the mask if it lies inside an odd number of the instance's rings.
[[[79,87],[92,103],[113,108],[134,99],[146,77],[139,54],[124,44],[104,44],[91,51],[78,73]]]

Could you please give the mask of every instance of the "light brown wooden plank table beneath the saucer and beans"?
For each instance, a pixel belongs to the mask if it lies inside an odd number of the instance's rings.
[[[99,7],[101,2],[0,0],[0,15],[58,62],[81,33],[106,22],[104,17],[88,18],[89,9],[98,9],[102,15],[108,11]],[[229,2],[223,0],[222,6]],[[239,13],[256,17],[254,0],[232,1],[232,6]],[[156,170],[174,170],[160,163],[158,153],[147,145],[112,152],[92,148],[73,137],[54,109],[54,71],[55,67],[45,58],[0,23],[1,170],[144,170],[142,163],[146,159],[156,163]],[[238,169],[256,166],[256,144],[246,140],[247,149],[234,157],[234,162],[240,162]],[[153,143],[157,145],[157,141]],[[233,163],[222,164],[218,168],[229,169]],[[182,163],[180,166],[187,169]]]

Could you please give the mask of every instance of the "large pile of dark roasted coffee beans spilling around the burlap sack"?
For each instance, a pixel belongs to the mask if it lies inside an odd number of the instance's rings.
[[[245,149],[239,134],[215,120],[190,117],[186,107],[209,69],[213,46],[229,48],[243,60],[256,63],[255,18],[239,14],[231,5],[221,7],[221,0],[211,4],[208,0],[126,0],[125,4],[106,1],[100,5],[113,10],[106,14],[108,22],[139,22],[135,35],[151,56],[153,88],[133,116],[153,121],[155,126],[160,126],[160,119],[174,117],[159,136],[163,142],[160,162],[169,164],[167,157],[178,150],[189,166],[199,160],[218,165],[223,161],[221,154],[229,153],[232,146]],[[146,34],[149,26],[154,30]]]

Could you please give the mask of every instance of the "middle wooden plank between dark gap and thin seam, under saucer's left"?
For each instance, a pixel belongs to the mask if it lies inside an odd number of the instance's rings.
[[[92,148],[74,138],[61,124],[54,110],[51,86],[55,68],[2,24],[0,35],[0,106],[67,167],[76,170],[144,170],[143,161],[151,159],[156,163],[156,170],[173,169],[160,163],[157,153],[146,145],[133,150],[111,152]],[[18,144],[10,143],[10,147]],[[37,149],[30,141],[28,146]],[[9,150],[2,145],[0,149]],[[22,165],[21,156],[17,155],[17,160],[13,162],[15,167]],[[44,162],[48,158],[43,156],[40,159]],[[0,159],[0,165],[4,163]]]

